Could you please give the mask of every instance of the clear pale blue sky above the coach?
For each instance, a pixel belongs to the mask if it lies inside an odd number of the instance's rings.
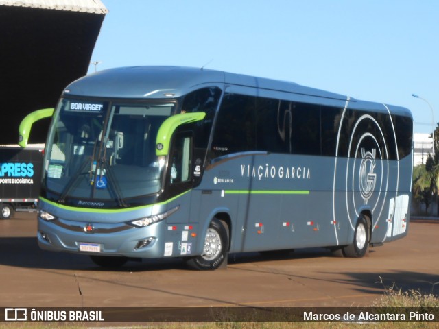
[[[416,133],[439,121],[437,0],[102,3],[109,13],[91,58],[100,64],[89,73],[204,66],[404,106]]]

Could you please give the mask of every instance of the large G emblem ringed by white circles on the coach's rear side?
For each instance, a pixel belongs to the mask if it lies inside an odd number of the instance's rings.
[[[399,182],[398,148],[390,114],[344,109],[337,134],[333,178],[333,220],[348,218],[352,230],[360,213],[372,213],[372,231],[385,239],[390,198]],[[337,236],[337,230],[335,235]]]

